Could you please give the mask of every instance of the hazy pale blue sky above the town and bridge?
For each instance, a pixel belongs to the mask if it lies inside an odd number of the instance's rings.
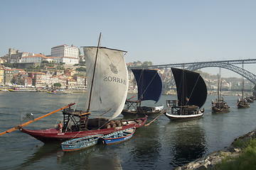
[[[126,62],[255,59],[255,6],[255,0],[1,1],[0,56],[9,47],[50,55],[57,45],[97,46],[102,32],[101,45],[127,50]],[[254,68],[245,65],[256,74]]]

